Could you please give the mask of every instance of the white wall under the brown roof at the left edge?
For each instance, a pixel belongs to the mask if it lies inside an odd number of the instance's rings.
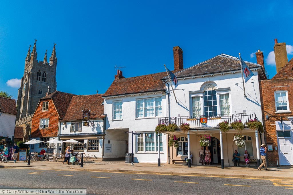
[[[3,113],[0,116],[0,136],[12,137],[14,136],[16,115]]]

